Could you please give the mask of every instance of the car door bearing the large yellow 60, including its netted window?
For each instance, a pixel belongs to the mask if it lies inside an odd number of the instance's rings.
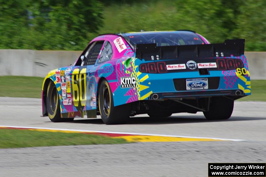
[[[83,117],[96,117],[95,62],[99,57],[104,41],[92,42],[80,57],[80,66],[72,72],[73,104]]]

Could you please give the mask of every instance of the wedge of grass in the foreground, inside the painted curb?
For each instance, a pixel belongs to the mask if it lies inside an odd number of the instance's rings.
[[[110,138],[84,133],[0,129],[0,148],[121,143],[128,143],[128,141],[122,138]]]

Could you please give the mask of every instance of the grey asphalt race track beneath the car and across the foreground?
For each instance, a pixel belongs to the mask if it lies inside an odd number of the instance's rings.
[[[235,102],[229,120],[207,121],[202,113],[126,125],[100,119],[53,123],[41,117],[41,100],[0,98],[0,125],[98,130],[245,141],[153,142],[0,150],[0,176],[207,176],[208,162],[266,162],[266,102]]]

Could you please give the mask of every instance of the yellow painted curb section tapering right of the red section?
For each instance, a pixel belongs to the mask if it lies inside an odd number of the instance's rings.
[[[222,140],[214,140],[207,138],[181,138],[181,137],[148,136],[148,135],[117,136],[113,138],[123,138],[130,142],[222,141]]]

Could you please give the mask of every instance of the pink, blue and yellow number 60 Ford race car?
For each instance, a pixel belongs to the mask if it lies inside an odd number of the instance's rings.
[[[189,30],[103,34],[73,65],[52,70],[42,86],[42,113],[53,122],[101,116],[169,117],[202,111],[228,119],[234,100],[251,94],[244,39],[210,44]]]

